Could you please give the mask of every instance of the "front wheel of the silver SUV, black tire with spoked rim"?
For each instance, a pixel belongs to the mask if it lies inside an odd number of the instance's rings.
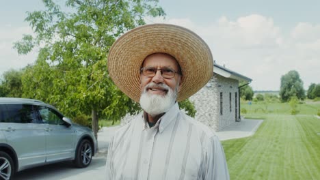
[[[89,166],[92,160],[92,144],[89,140],[81,140],[75,155],[75,165],[78,168],[85,168]]]

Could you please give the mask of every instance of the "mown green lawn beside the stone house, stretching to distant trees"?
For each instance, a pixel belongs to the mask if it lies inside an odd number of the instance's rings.
[[[222,142],[230,179],[320,179],[320,104],[299,104],[297,115],[289,104],[265,106],[241,104],[265,121],[254,136]]]

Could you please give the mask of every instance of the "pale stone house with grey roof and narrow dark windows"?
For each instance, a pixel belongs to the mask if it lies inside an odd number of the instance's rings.
[[[219,131],[240,121],[239,82],[252,79],[214,64],[213,77],[200,91],[189,97],[196,107],[195,119]]]

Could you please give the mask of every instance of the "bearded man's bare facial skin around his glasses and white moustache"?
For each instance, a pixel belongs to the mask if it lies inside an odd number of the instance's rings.
[[[148,56],[144,60],[142,67],[155,67],[157,69],[168,68],[174,70],[175,72],[178,72],[179,70],[176,60],[170,57],[170,55],[166,55],[163,53],[156,53]],[[176,89],[179,89],[181,87],[181,75],[178,73],[175,73],[173,78],[163,78],[163,76],[161,75],[161,71],[158,70],[153,77],[148,77],[140,74],[140,80],[142,93],[144,92],[146,85],[148,85],[148,83],[150,82],[154,82],[155,84],[163,83],[165,85],[168,85],[168,87],[170,87],[172,91],[176,91]],[[166,95],[168,91],[165,91],[161,88],[148,88],[146,89],[146,93]]]

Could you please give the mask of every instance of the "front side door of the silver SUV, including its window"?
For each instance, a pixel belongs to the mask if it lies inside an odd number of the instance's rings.
[[[43,123],[48,125],[46,132],[46,162],[55,162],[75,157],[75,130],[62,120],[56,110],[40,106]]]

